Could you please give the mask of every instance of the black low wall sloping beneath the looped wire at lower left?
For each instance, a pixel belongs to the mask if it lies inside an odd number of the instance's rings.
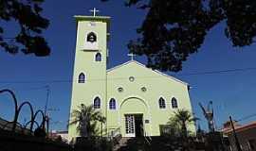
[[[70,151],[66,143],[58,143],[10,131],[0,130],[0,151]]]

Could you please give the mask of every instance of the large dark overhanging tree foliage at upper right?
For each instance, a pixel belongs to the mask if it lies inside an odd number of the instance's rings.
[[[250,45],[256,35],[255,0],[127,0],[125,4],[147,11],[137,29],[138,39],[128,48],[145,55],[153,69],[180,71],[182,62],[198,51],[208,31],[220,22],[226,23],[224,33],[233,46]]]

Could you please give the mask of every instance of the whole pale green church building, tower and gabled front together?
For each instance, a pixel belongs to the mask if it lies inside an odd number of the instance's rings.
[[[105,134],[159,136],[176,109],[192,111],[189,85],[130,60],[107,69],[110,17],[75,16],[77,43],[70,113],[84,104],[99,109]],[[70,117],[71,118],[71,117]],[[194,126],[189,129],[194,131]],[[69,138],[78,137],[69,126]]]

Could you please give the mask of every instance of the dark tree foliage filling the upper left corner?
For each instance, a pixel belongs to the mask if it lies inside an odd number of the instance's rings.
[[[9,25],[15,21],[20,31],[13,37],[5,37],[5,29],[0,25],[0,46],[10,54],[22,51],[25,54],[48,56],[50,48],[42,31],[47,28],[49,21],[40,15],[43,8],[40,5],[45,0],[1,0],[0,21]]]

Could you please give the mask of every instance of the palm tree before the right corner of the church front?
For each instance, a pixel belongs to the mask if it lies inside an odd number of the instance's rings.
[[[175,127],[181,127],[181,134],[184,138],[188,137],[188,128],[189,124],[198,120],[192,116],[192,113],[187,109],[177,109],[174,111],[174,117],[169,119],[168,124],[173,125]]]

